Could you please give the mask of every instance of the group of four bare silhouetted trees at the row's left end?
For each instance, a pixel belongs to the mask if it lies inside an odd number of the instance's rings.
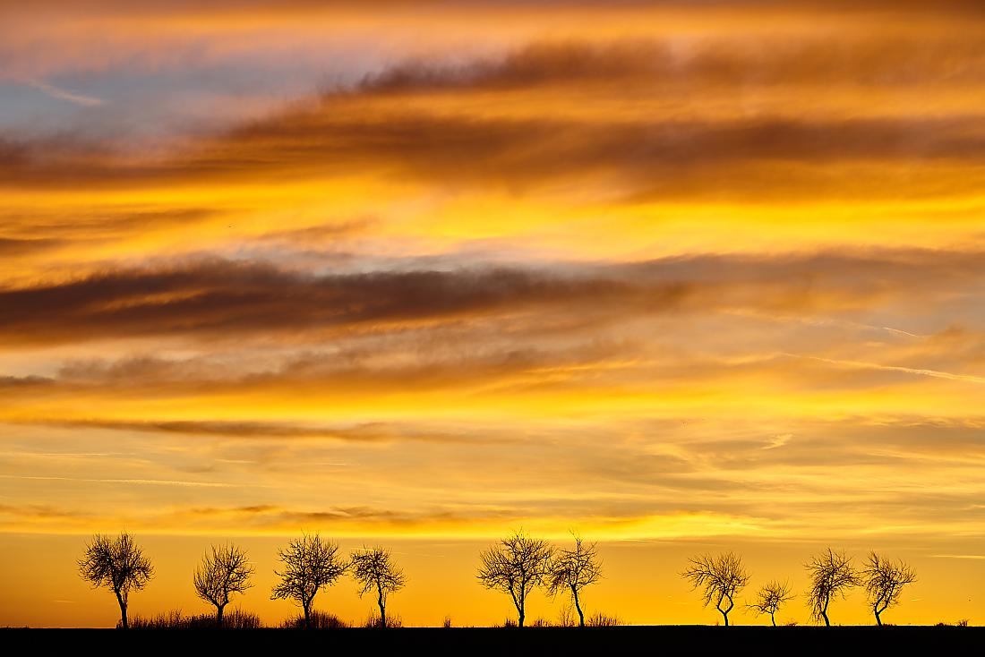
[[[274,573],[280,581],[271,592],[273,600],[290,600],[304,613],[304,626],[310,626],[311,604],[320,590],[333,585],[347,572],[359,585],[359,595],[372,592],[379,608],[379,624],[386,627],[388,596],[404,587],[407,581],[388,550],[365,548],[354,551],[348,559],[333,541],[319,535],[304,535],[278,551],[283,567]],[[150,559],[126,532],[116,538],[96,535],[79,559],[79,574],[99,588],[113,592],[120,607],[120,623],[127,624],[127,602],[131,591],[143,589],[154,577]],[[223,625],[223,613],[230,599],[253,586],[255,572],[246,551],[232,545],[212,546],[192,576],[199,598],[215,606],[216,624]]]

